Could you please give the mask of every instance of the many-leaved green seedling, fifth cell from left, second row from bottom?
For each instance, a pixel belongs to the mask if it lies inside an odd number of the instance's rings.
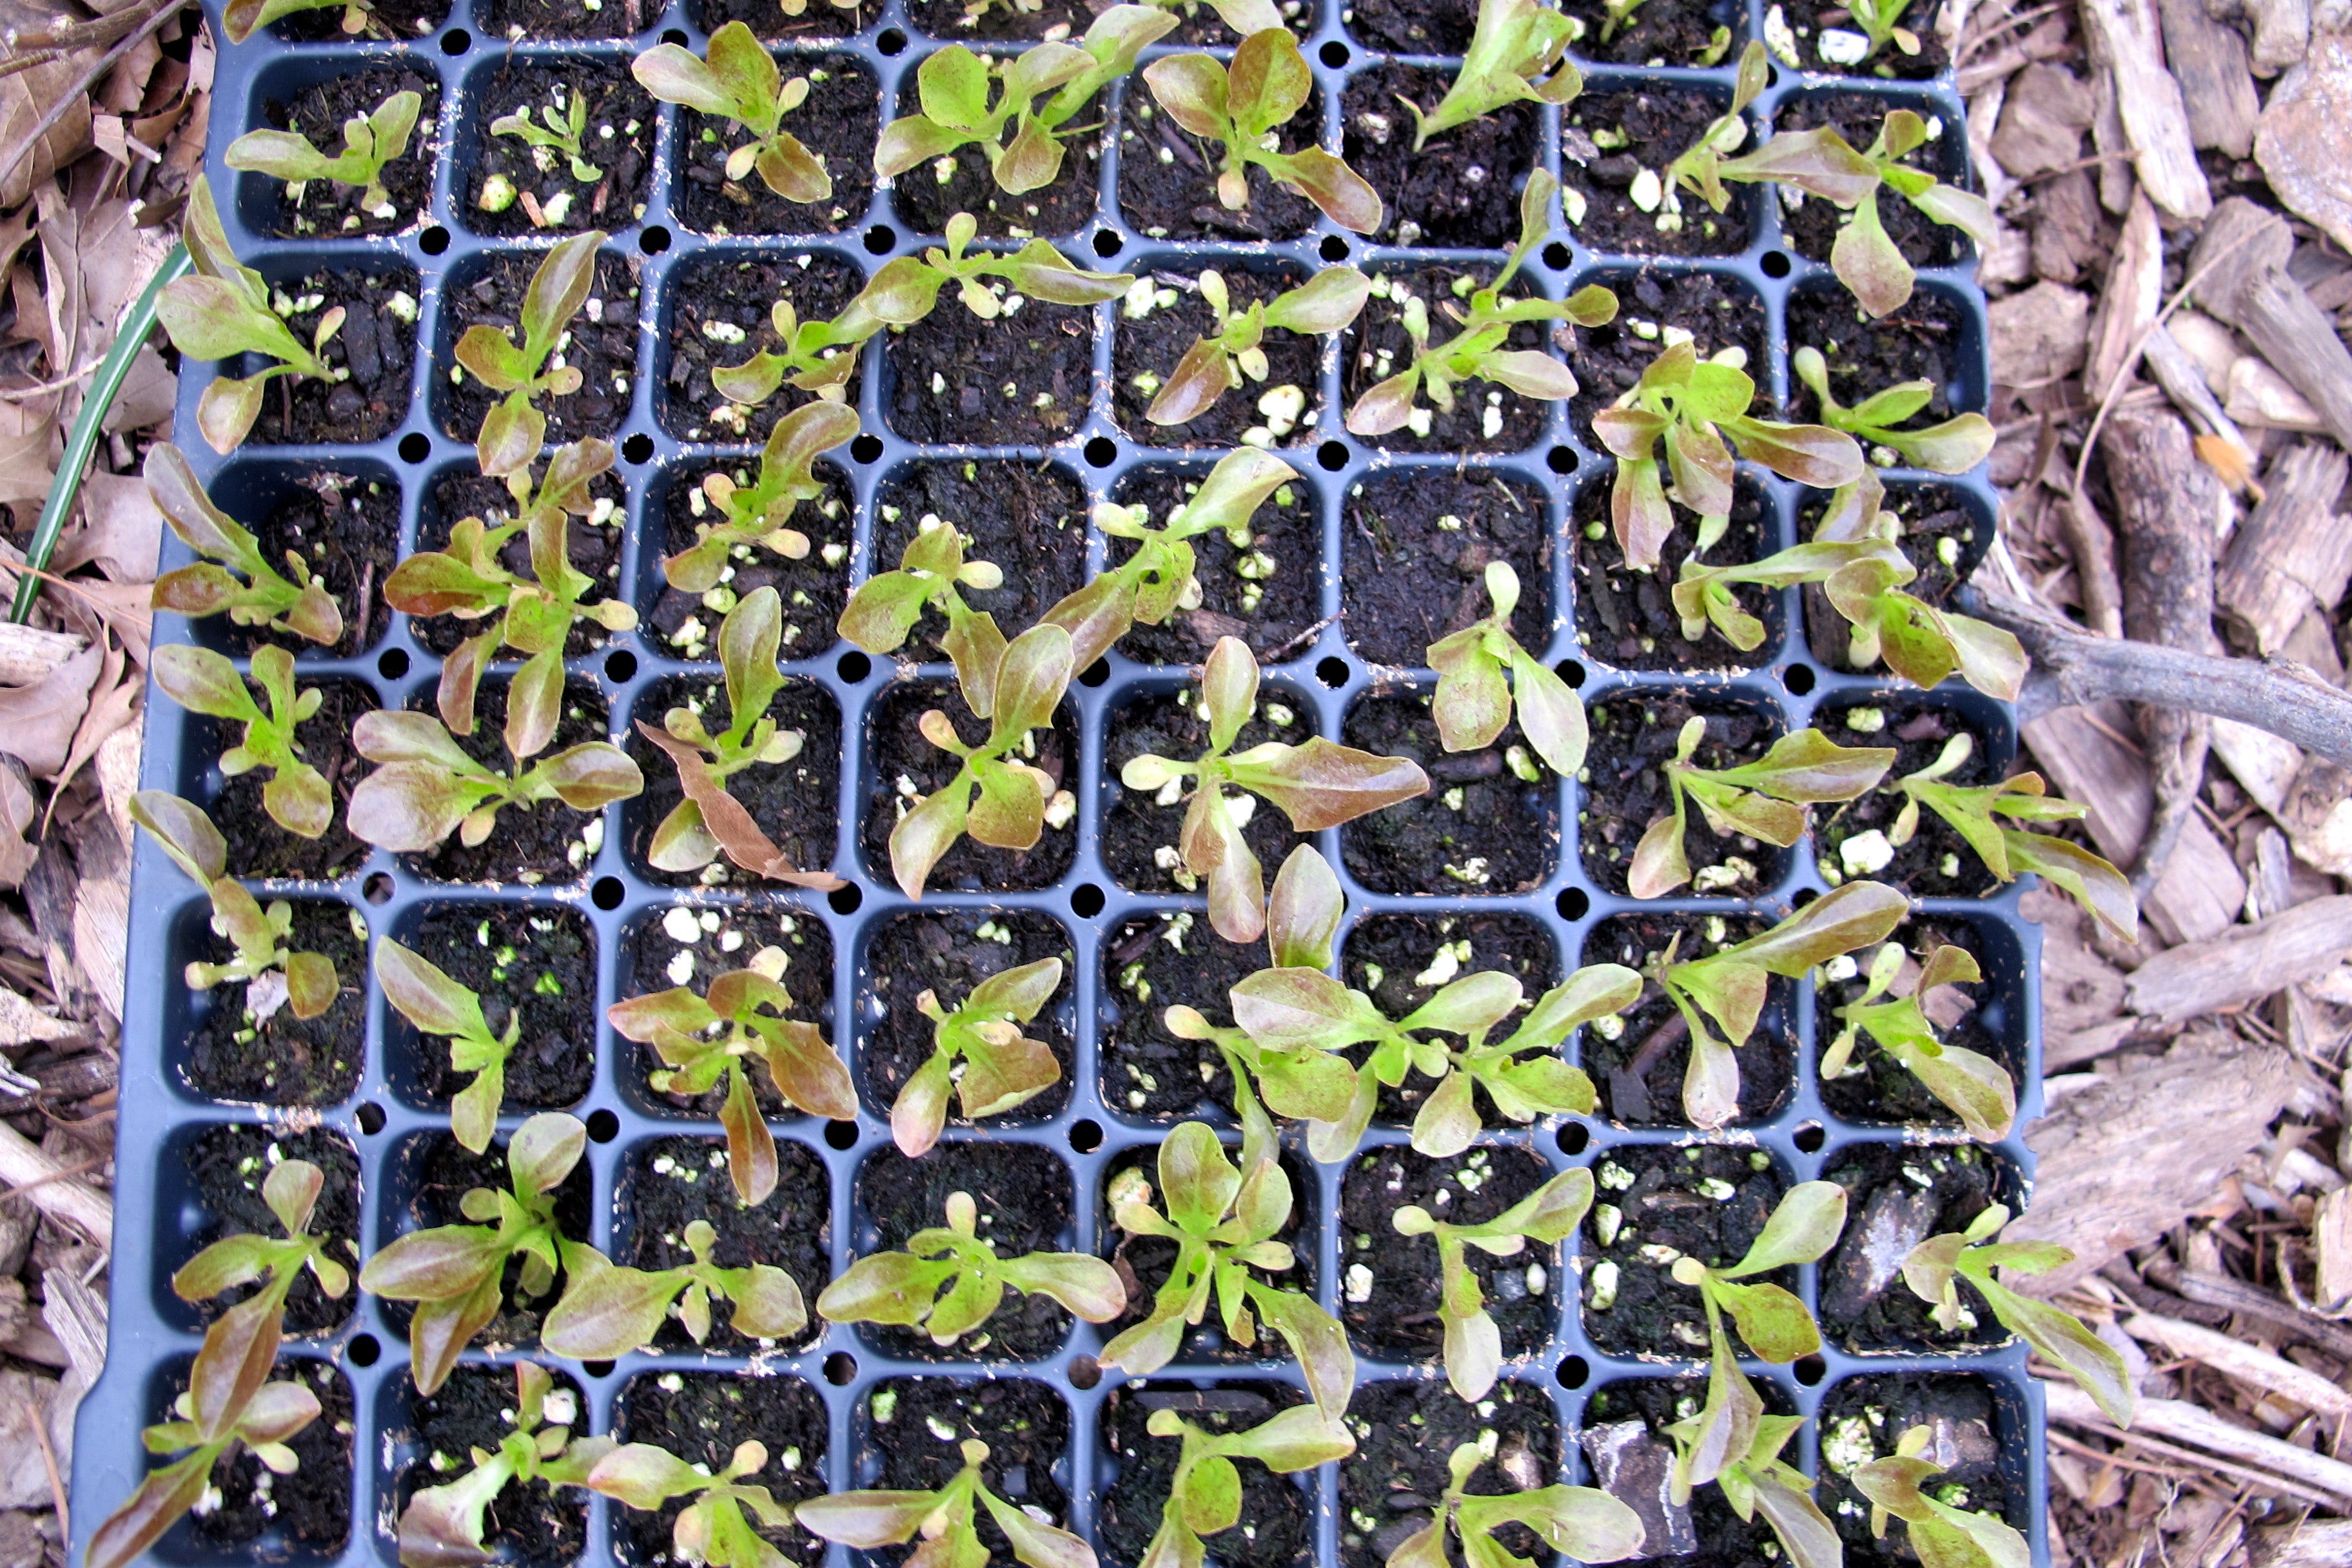
[[[1287,1274],[1296,1262],[1291,1246],[1275,1241],[1291,1218],[1291,1178],[1282,1161],[1268,1154],[1244,1175],[1207,1121],[1183,1121],[1160,1145],[1160,1190],[1167,1218],[1152,1208],[1152,1185],[1141,1171],[1112,1180],[1120,1229],[1174,1241],[1176,1262],[1150,1316],[1103,1347],[1103,1366],[1129,1378],[1157,1373],[1176,1359],[1185,1326],[1209,1312],[1214,1288],[1225,1338],[1247,1347],[1258,1342],[1261,1324],[1272,1328],[1298,1356],[1315,1406],[1327,1420],[1341,1420],[1355,1389],[1348,1331],[1312,1295],[1282,1291],[1251,1272]]]

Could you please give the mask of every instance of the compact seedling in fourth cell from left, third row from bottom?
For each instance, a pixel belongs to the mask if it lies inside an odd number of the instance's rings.
[[[931,1056],[889,1107],[901,1154],[915,1159],[938,1143],[950,1093],[962,1098],[964,1117],[978,1121],[1028,1105],[1061,1081],[1054,1048],[1021,1032],[1058,987],[1061,959],[1037,959],[988,976],[953,1013],[938,1004],[938,992],[915,997],[915,1011],[931,1020]]]

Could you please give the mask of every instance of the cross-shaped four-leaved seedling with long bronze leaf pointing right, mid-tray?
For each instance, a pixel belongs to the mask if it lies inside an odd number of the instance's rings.
[[[1176,846],[1185,870],[1209,879],[1209,924],[1228,943],[1254,943],[1265,931],[1265,872],[1242,837],[1256,799],[1279,806],[1298,832],[1322,832],[1430,792],[1430,776],[1411,757],[1374,757],[1324,736],[1303,745],[1265,741],[1228,755],[1242,724],[1258,710],[1258,658],[1240,637],[1218,637],[1202,668],[1202,710],[1209,750],[1195,762],[1143,752],[1120,769],[1138,795],[1183,790],[1192,780]],[[1244,790],[1228,797],[1225,785]],[[1174,799],[1171,799],[1174,804]]]

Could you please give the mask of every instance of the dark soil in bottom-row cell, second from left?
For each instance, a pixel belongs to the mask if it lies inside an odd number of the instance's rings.
[[[572,1436],[586,1434],[588,1396],[562,1368],[550,1366],[548,1373],[555,1378],[548,1401],[557,1415],[569,1403],[572,1420],[541,1415],[539,1429],[569,1427]],[[440,1389],[409,1399],[419,1455],[400,1472],[402,1509],[419,1490],[463,1476],[475,1448],[496,1453],[515,1432],[515,1373],[506,1366],[456,1366]],[[569,1563],[588,1544],[586,1495],[576,1486],[508,1481],[482,1514],[482,1544],[492,1552],[508,1547],[522,1563]]]

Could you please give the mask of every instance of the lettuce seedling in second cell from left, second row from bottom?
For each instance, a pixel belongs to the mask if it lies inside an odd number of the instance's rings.
[[[449,1378],[459,1354],[482,1333],[503,1300],[501,1276],[520,1260],[517,1291],[541,1298],[562,1267],[562,1225],[555,1190],[572,1175],[588,1128],[579,1117],[539,1112],[506,1145],[508,1192],[470,1187],[459,1213],[473,1225],[412,1229],[360,1269],[360,1288],[395,1302],[416,1302],[409,1319],[409,1378],[430,1394]]]

